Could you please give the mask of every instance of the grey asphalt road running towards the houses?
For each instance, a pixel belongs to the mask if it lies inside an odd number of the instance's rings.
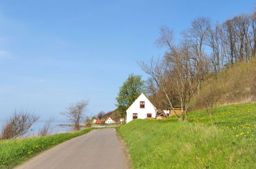
[[[128,168],[113,128],[93,130],[61,143],[16,168]]]

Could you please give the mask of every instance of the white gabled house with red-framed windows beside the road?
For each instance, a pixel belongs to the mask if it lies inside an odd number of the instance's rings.
[[[147,117],[155,118],[154,105],[149,99],[142,93],[126,110],[126,122],[130,122],[133,119],[144,119]]]

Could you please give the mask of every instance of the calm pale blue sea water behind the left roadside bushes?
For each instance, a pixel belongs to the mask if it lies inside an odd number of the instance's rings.
[[[2,129],[4,121],[0,121],[0,130]],[[32,125],[30,128],[30,131],[24,136],[37,136],[37,133],[40,129],[43,128],[45,125],[45,121],[38,121]],[[52,122],[51,123],[51,129],[50,129],[50,134],[57,134],[57,133],[67,133],[72,131],[72,127],[70,126],[59,126],[57,124],[70,124],[70,122],[67,121],[57,121],[57,122]]]

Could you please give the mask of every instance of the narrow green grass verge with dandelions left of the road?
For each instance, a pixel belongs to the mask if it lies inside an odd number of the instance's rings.
[[[71,138],[81,136],[95,128],[86,128],[74,133],[61,133],[35,138],[18,138],[0,141],[0,168],[12,168],[36,154]]]

